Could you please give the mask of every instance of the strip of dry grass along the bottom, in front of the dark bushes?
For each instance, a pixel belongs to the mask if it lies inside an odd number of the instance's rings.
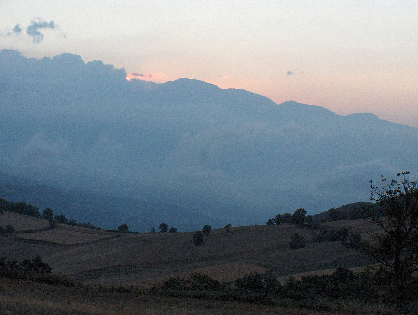
[[[318,312],[287,307],[255,305],[241,302],[221,302],[180,299],[155,295],[109,292],[82,287],[62,287],[49,284],[0,278],[0,314],[8,315],[377,315],[394,314],[389,310],[362,309],[354,305],[340,312]]]

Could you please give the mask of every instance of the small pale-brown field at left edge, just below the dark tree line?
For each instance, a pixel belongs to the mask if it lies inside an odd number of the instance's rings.
[[[40,230],[49,228],[49,222],[47,220],[9,211],[3,211],[3,214],[0,214],[0,225],[2,225],[3,228],[5,228],[7,225],[12,225],[16,231]]]

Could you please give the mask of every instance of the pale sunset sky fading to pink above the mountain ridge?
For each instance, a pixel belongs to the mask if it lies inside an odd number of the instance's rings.
[[[418,127],[417,1],[0,1],[0,49]]]

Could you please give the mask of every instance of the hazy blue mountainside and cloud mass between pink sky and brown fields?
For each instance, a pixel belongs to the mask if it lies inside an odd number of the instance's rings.
[[[160,220],[192,230],[316,213],[367,201],[380,174],[418,171],[418,128],[193,79],[125,77],[77,55],[0,51],[0,170],[71,192],[66,200],[90,194],[90,208],[55,204],[78,220],[131,220],[141,231]],[[125,201],[110,207],[97,195]]]

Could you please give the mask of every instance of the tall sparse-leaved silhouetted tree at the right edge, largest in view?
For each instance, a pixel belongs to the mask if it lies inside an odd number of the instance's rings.
[[[410,180],[408,174],[398,173],[398,179],[390,181],[382,176],[379,187],[370,181],[370,200],[384,207],[385,215],[365,211],[367,220],[380,229],[370,233],[374,245],[362,249],[385,266],[382,270],[396,288],[398,308],[413,298],[408,289],[418,271],[418,187],[417,178]]]

